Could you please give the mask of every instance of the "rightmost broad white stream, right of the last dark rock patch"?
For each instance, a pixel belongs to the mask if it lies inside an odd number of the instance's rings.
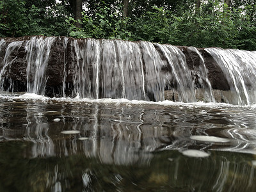
[[[256,102],[256,53],[234,49],[207,48],[227,78],[230,92],[223,92],[229,103]]]

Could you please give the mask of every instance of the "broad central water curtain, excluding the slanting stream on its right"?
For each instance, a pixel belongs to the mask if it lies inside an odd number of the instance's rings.
[[[164,99],[163,62],[153,44],[85,39],[74,40],[72,47],[76,58],[75,95],[95,99]]]

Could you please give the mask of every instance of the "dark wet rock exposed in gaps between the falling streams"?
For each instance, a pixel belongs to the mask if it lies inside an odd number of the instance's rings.
[[[24,92],[26,91],[27,84],[27,52],[26,43],[32,38],[32,36],[22,36],[19,38],[4,38],[4,44],[0,46],[0,70],[3,69],[4,56],[6,56],[6,47],[12,42],[22,42],[21,46],[15,47],[12,53],[9,55],[8,60],[13,60],[10,68],[7,69],[4,78],[4,89],[12,92]],[[38,36],[38,38],[46,38],[44,36]],[[0,38],[0,41],[3,38]],[[61,97],[63,96],[63,86],[66,87],[65,95],[72,95],[72,89],[74,88],[74,76],[76,72],[77,56],[76,51],[72,45],[74,38],[67,38],[65,36],[58,36],[54,38],[54,42],[51,46],[51,52],[49,54],[49,61],[47,64],[47,83],[45,87],[45,94],[51,97]],[[79,46],[83,45],[83,40],[77,40]],[[157,44],[154,44],[156,51],[159,53],[163,63],[167,60],[159,49]],[[188,47],[177,46],[180,51],[186,56],[186,63],[191,70],[193,76],[193,82],[195,88],[201,88],[200,82],[198,81],[198,76],[195,70],[200,67],[200,56],[195,51],[188,49]],[[207,68],[208,78],[211,82],[211,86],[216,90],[230,90],[227,79],[223,74],[218,63],[214,61],[211,54],[209,54],[204,49],[197,49],[203,56],[205,67]],[[92,63],[93,65],[93,63]],[[163,65],[165,66],[165,65]],[[162,67],[161,71],[166,74],[168,71],[172,70],[169,65]],[[64,80],[63,80],[64,79]],[[63,82],[65,81],[65,82]],[[177,88],[177,82],[169,82],[168,89]],[[99,88],[101,90],[101,88]],[[148,92],[150,93],[150,92]],[[147,94],[148,94],[147,93]],[[166,99],[178,100],[176,93],[166,93]],[[171,94],[171,95],[170,95]],[[152,97],[153,98],[153,97]]]

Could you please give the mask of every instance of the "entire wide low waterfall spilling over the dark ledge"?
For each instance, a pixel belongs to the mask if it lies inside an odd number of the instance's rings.
[[[217,89],[230,104],[256,102],[255,51],[63,36],[1,38],[0,51],[9,92],[16,83],[50,97],[162,101],[168,90],[175,101],[215,102]]]

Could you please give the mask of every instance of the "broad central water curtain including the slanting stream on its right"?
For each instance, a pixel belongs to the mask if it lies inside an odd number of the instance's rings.
[[[164,52],[165,61],[156,47]],[[186,58],[177,47],[85,39],[74,40],[72,49],[74,95],[81,98],[159,101],[164,100],[164,88],[175,81],[180,101],[196,100]]]

